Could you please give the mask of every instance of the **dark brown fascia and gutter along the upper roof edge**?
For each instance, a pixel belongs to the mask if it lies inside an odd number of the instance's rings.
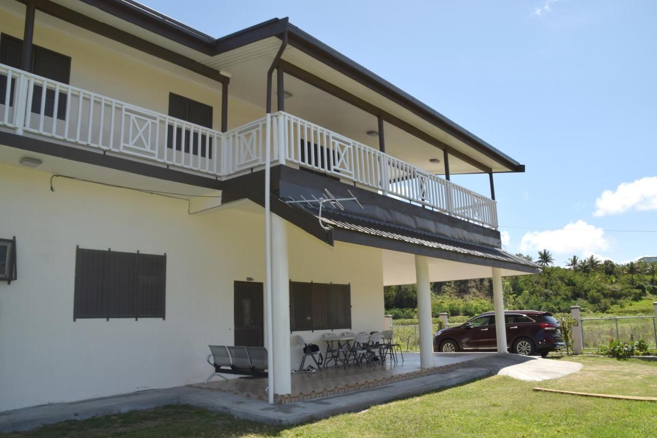
[[[290,45],[346,74],[350,78],[357,80],[398,105],[411,110],[411,112],[434,124],[434,126],[447,132],[447,134],[453,135],[453,137],[463,141],[463,143],[472,147],[472,149],[495,160],[495,162],[499,162],[499,164],[508,168],[510,172],[524,172],[523,164],[520,164],[483,139],[455,124],[455,122],[449,120],[449,118],[443,116],[440,112],[425,105],[370,70],[367,70],[367,68],[357,64],[357,62],[352,61],[325,43],[322,43],[319,39],[290,24],[288,18],[273,18],[272,20],[256,24],[234,34],[213,40],[211,36],[181,22],[177,22],[173,18],[160,14],[160,12],[154,11],[134,0],[81,1],[109,14],[118,16],[136,26],[145,28],[150,32],[191,47],[208,56],[219,55],[219,53],[224,53],[267,37],[282,37],[282,34],[287,32]]]

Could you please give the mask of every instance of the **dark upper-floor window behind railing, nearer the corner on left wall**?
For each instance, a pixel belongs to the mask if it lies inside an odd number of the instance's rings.
[[[175,93],[169,93],[169,115],[171,117],[185,120],[185,122],[212,129],[212,107],[210,107],[210,105],[194,101]],[[191,143],[193,155],[198,155],[198,147],[200,143],[200,156],[206,157],[206,149],[208,149],[208,158],[212,159],[212,138],[206,139],[206,135],[198,135],[196,130],[189,130],[187,128],[183,134],[182,127],[176,127],[174,135],[173,126],[170,125],[168,126],[167,135],[167,147],[169,149],[173,149],[173,137],[175,137],[176,151],[182,151],[184,144],[185,153],[189,153],[190,137],[192,137]]]

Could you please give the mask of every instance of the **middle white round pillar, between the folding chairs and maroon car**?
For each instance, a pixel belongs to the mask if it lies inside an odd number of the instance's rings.
[[[434,333],[431,325],[429,259],[425,256],[415,256],[415,282],[417,283],[417,318],[420,326],[420,368],[431,368],[434,366]]]

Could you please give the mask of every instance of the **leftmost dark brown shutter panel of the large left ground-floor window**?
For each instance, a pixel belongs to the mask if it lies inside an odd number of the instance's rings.
[[[76,251],[73,318],[106,318],[108,252]]]

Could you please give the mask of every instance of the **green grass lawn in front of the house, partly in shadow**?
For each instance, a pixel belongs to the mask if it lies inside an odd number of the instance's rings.
[[[557,360],[557,359],[555,359]],[[657,396],[657,363],[563,358],[579,373],[543,382],[495,376],[444,391],[374,406],[302,426],[274,427],[189,406],[65,422],[15,437],[226,436],[587,436],[657,435],[657,402],[621,401],[533,391],[535,386],[591,393]]]

